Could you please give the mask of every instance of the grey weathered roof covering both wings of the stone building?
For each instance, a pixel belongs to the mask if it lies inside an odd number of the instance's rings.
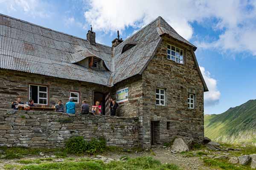
[[[111,58],[111,47],[106,45],[90,45],[79,37],[0,14],[0,68],[113,86],[142,73],[154,56],[163,34],[191,45],[194,51],[196,49],[162,17],[157,17],[113,48]],[[122,53],[127,44],[136,45]],[[91,56],[101,58],[108,71],[76,64]],[[199,67],[198,72],[201,75]],[[201,79],[207,91],[202,76]]]

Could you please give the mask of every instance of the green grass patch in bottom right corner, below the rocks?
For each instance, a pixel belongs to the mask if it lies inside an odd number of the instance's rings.
[[[204,165],[211,168],[221,168],[221,170],[253,170],[249,166],[230,164],[227,161],[204,159]]]

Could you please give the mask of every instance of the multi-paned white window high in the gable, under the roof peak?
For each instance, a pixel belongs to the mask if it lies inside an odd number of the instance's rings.
[[[167,45],[167,59],[184,64],[184,50],[177,48],[173,45]]]

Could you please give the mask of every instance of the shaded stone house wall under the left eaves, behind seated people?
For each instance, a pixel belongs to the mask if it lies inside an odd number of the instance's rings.
[[[45,85],[48,87],[48,107],[58,102],[59,99],[65,104],[70,91],[80,92],[80,103],[76,104],[76,111],[80,111],[82,100],[91,106],[93,103],[93,91],[108,93],[110,88],[88,82],[60,79],[37,74],[29,74],[20,71],[10,71],[0,69],[0,108],[11,108],[11,103],[17,96],[22,102],[28,101],[29,84]],[[39,105],[41,106],[41,105]]]

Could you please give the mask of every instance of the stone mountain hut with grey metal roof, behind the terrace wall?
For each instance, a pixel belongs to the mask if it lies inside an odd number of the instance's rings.
[[[0,14],[0,108],[20,96],[51,105],[70,96],[79,108],[100,101],[109,114],[139,117],[143,147],[177,136],[204,137],[204,92],[208,91],[195,57],[195,45],[162,17],[112,47]]]

